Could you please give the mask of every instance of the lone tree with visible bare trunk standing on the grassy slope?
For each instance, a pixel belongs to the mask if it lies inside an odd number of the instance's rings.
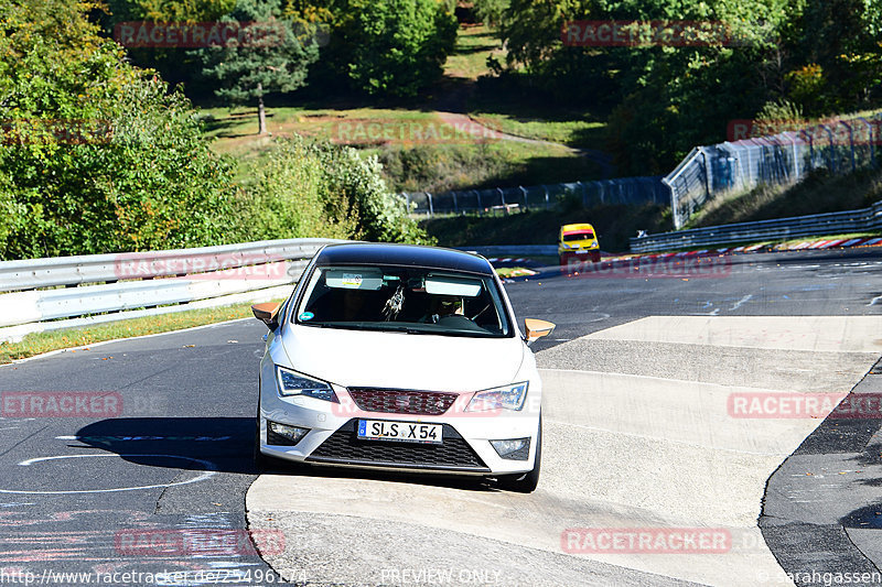
[[[203,73],[223,84],[215,90],[218,97],[233,104],[257,101],[260,134],[267,132],[265,96],[305,85],[309,65],[319,58],[319,44],[309,23],[281,18],[281,12],[278,1],[239,0],[222,22],[257,22],[257,34],[270,34],[200,50]]]

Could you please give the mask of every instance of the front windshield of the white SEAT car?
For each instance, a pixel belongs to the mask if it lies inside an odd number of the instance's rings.
[[[304,326],[512,336],[491,276],[401,267],[319,267],[294,313]]]

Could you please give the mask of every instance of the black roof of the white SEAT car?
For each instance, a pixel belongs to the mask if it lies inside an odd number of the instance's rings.
[[[483,257],[454,249],[417,244],[380,242],[329,244],[321,250],[315,259],[315,264],[319,267],[348,264],[419,267],[493,275],[493,267]]]

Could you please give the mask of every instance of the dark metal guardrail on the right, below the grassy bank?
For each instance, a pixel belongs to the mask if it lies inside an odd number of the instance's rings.
[[[816,237],[847,232],[882,230],[882,202],[859,210],[816,214],[759,220],[675,232],[647,235],[631,239],[632,252],[658,252],[690,247],[733,244],[762,240]]]

